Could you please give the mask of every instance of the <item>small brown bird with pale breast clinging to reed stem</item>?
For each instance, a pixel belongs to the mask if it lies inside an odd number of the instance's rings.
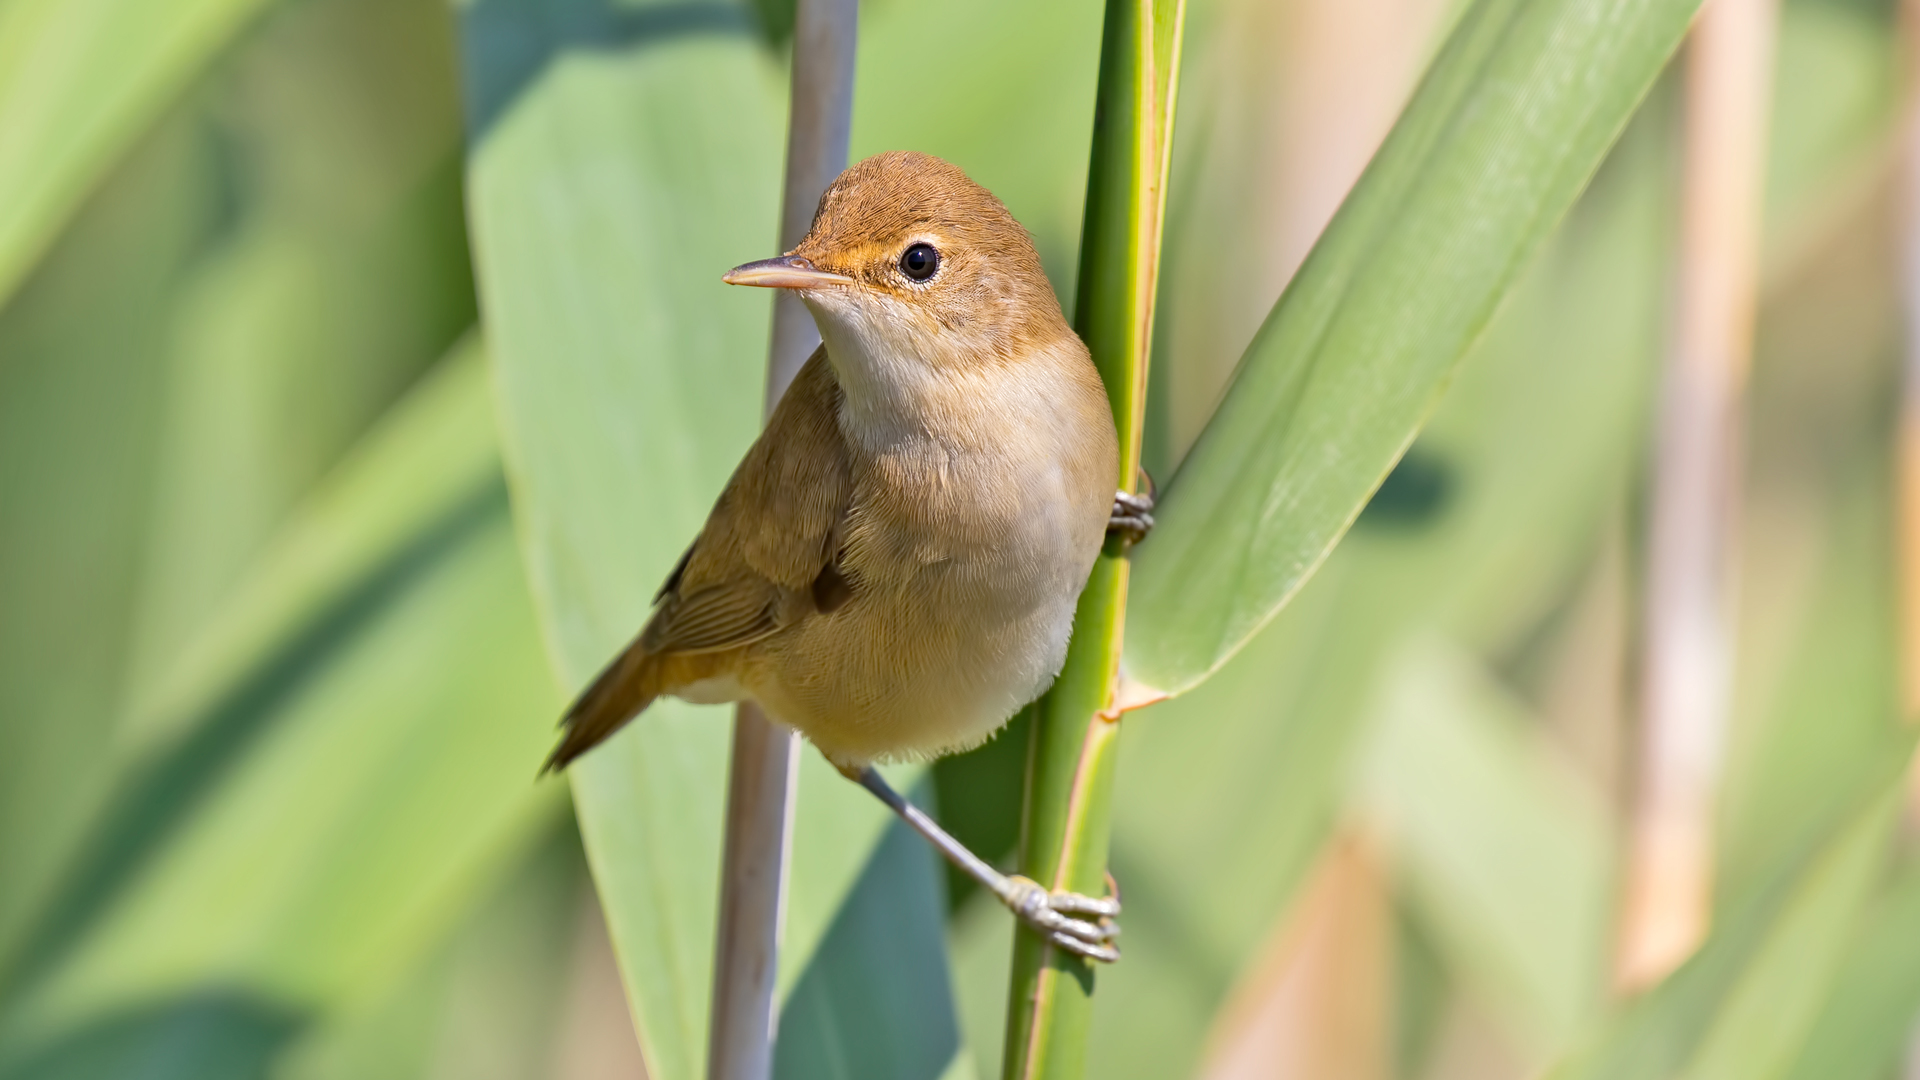
[[[879,154],[797,248],[726,281],[793,288],[824,344],[549,769],[662,694],[758,701],[1050,940],[1117,959],[1116,899],[996,872],[872,769],[977,746],[1039,698],[1106,532],[1152,525],[1114,490],[1106,390],[1031,236],[954,165]]]

